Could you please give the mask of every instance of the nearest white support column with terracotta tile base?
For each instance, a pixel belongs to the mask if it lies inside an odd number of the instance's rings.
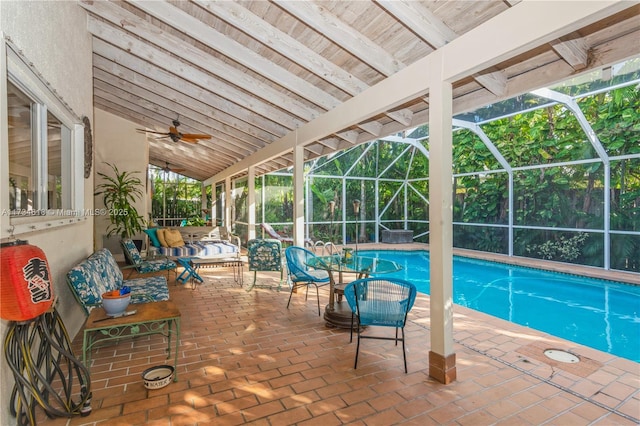
[[[434,55],[432,55],[434,56]],[[443,81],[442,55],[429,68],[429,257],[431,350],[429,376],[456,380],[453,352],[452,86]]]

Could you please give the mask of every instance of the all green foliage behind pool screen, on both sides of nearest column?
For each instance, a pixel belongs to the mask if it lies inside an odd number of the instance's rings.
[[[640,87],[626,86],[578,100],[606,152],[604,161],[568,107],[540,99],[523,98],[522,102],[544,106],[481,125],[514,169],[514,254],[603,266],[605,202],[609,198],[611,266],[640,271],[640,237],[625,233],[640,231],[640,159],[628,157],[640,153]],[[424,126],[414,134],[418,132],[428,134]],[[428,139],[422,143],[428,150]],[[579,163],[568,164],[576,161]],[[464,129],[453,134],[453,166],[454,222],[469,224],[454,226],[454,245],[506,253],[508,172],[477,134]],[[356,218],[350,203],[358,199],[359,241],[376,231],[376,213],[388,228],[402,228],[407,222],[415,233],[426,233],[428,170],[429,158],[415,146],[387,141],[318,160],[309,180],[311,200],[306,203],[312,222],[329,219],[327,203],[333,199],[334,219],[346,222],[345,238],[352,241]],[[604,193],[606,179],[609,194]],[[291,181],[274,181],[273,188],[265,200],[265,220],[289,222]],[[347,206],[341,205],[343,200]],[[322,238],[329,231],[318,224],[314,232]],[[428,241],[428,235],[421,238]]]

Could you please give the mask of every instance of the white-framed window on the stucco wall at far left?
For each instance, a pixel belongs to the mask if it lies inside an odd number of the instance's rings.
[[[82,207],[80,120],[24,58],[7,54],[9,214],[75,215]]]

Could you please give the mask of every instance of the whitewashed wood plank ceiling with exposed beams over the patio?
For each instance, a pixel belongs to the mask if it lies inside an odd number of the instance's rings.
[[[375,86],[519,1],[90,1],[95,107],[198,144],[149,137],[150,162],[204,180]],[[576,2],[576,7],[579,2]],[[470,111],[640,54],[640,6],[454,84]],[[621,10],[620,10],[621,9]],[[535,25],[535,23],[531,23]],[[504,35],[508,36],[508,35]],[[305,159],[428,120],[416,97],[305,146]],[[288,167],[291,152],[257,174]]]

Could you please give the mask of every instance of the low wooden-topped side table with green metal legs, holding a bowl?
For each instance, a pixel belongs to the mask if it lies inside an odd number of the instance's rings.
[[[178,381],[178,348],[180,345],[180,311],[170,301],[136,303],[129,305],[133,315],[110,318],[103,308],[89,314],[82,340],[82,362],[89,367],[91,350],[99,343],[130,337],[161,334],[167,338],[167,359],[171,358],[171,339],[175,337],[173,359],[174,382]],[[107,318],[107,319],[105,319]]]

